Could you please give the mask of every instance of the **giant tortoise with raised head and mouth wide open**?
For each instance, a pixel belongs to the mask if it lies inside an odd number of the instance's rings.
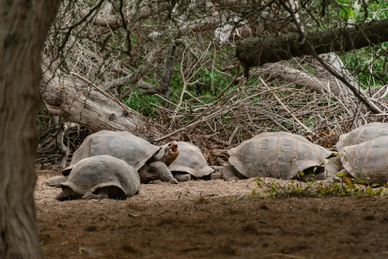
[[[85,138],[74,152],[70,166],[64,169],[62,174],[68,176],[73,167],[84,158],[111,155],[132,166],[139,173],[141,183],[159,179],[162,182],[178,184],[168,169],[178,154],[175,141],[159,147],[126,131],[101,130]],[[46,181],[46,184],[58,187],[66,181],[65,177],[53,177]]]

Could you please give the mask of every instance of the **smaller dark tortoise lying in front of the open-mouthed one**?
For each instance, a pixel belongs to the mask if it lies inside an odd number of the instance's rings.
[[[71,170],[62,192],[55,198],[126,199],[138,194],[140,178],[136,170],[113,156],[92,156],[79,161]]]

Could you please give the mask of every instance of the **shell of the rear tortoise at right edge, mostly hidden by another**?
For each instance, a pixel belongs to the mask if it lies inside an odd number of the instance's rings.
[[[337,142],[337,150],[341,153],[342,148],[345,146],[361,144],[381,136],[388,136],[388,123],[366,124],[360,128],[353,129],[348,134],[340,135]]]

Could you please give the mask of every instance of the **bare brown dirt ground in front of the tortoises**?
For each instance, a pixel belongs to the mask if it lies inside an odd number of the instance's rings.
[[[35,188],[48,259],[388,258],[388,197],[253,199],[252,180],[216,180],[60,202],[54,175],[38,171]]]

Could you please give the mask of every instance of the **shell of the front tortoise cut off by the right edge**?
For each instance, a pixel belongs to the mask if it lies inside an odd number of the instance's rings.
[[[387,185],[388,136],[345,146],[341,152],[343,167],[354,177],[369,184]]]

